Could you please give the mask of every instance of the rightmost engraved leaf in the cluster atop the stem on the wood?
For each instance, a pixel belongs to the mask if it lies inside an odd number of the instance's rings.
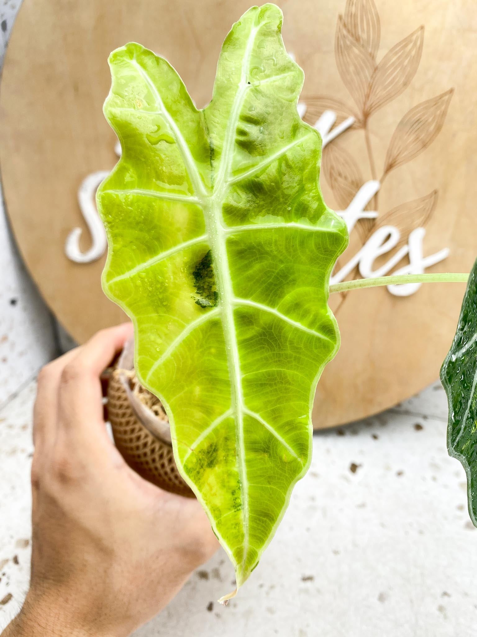
[[[423,42],[424,27],[421,26],[392,47],[379,62],[364,104],[365,119],[410,85],[419,66]]]

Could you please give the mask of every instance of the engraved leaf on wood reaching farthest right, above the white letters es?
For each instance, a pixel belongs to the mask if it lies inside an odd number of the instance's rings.
[[[417,104],[404,115],[392,134],[384,162],[384,175],[417,157],[441,131],[453,89]],[[383,180],[381,179],[381,181]]]

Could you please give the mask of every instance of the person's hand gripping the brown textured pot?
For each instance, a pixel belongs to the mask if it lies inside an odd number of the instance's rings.
[[[199,503],[143,480],[109,439],[100,374],[131,335],[100,331],[39,375],[31,584],[4,637],[128,636],[218,548]]]

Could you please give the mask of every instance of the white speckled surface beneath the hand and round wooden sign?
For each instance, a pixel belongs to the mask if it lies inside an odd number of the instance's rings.
[[[27,589],[33,398],[30,385],[0,411],[0,626]],[[315,434],[312,468],[239,596],[216,603],[233,579],[217,554],[136,637],[474,637],[477,533],[445,430],[435,385]]]

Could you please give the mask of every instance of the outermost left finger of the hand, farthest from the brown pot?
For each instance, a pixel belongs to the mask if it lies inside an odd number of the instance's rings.
[[[46,445],[55,436],[58,415],[58,389],[66,364],[78,355],[79,347],[45,365],[38,375],[33,408],[33,444]]]

